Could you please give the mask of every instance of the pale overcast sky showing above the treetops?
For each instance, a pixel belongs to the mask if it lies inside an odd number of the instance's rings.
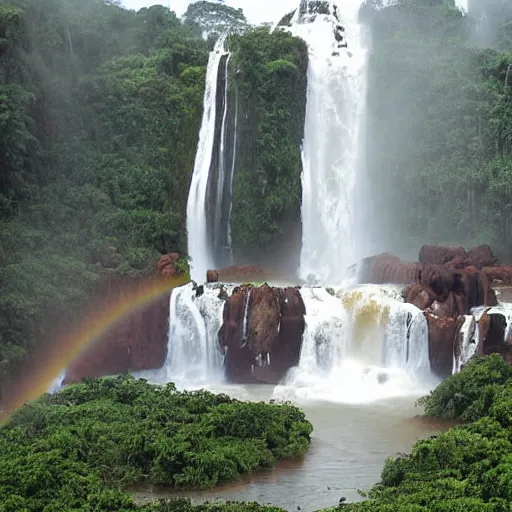
[[[171,8],[178,15],[187,9],[189,0],[121,0],[129,9],[140,9],[155,4],[162,4]],[[467,8],[467,0],[455,0],[457,5]],[[278,21],[286,13],[297,7],[298,0],[226,0],[226,4],[241,7],[247,19],[252,23],[264,21]],[[340,2],[341,3],[341,2]]]

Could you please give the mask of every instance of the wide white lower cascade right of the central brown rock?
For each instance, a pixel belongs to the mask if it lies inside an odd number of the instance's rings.
[[[332,292],[301,289],[300,363],[275,396],[361,403],[417,392],[430,377],[422,312],[384,287]]]

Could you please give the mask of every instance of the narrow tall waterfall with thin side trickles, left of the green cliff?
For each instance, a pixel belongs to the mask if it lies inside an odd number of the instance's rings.
[[[203,282],[206,271],[230,259],[229,216],[234,172],[236,122],[228,112],[230,54],[225,37],[210,53],[206,72],[203,119],[187,202],[188,254],[191,277]],[[234,138],[232,143],[228,138]]]

